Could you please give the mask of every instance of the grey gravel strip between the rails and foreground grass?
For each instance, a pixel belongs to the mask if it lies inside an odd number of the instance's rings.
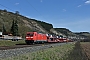
[[[25,47],[25,48],[16,48],[16,49],[9,49],[9,50],[0,50],[0,58],[7,58],[12,56],[17,56],[20,54],[25,54],[28,52],[34,52],[42,49],[51,48],[54,46],[60,46],[66,43],[56,43],[50,45],[42,45],[42,46],[34,46],[34,47]]]

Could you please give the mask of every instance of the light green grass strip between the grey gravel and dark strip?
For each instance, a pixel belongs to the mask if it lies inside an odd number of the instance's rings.
[[[70,54],[74,44],[51,47],[37,52],[22,54],[16,57],[9,57],[2,60],[64,60],[64,56]]]

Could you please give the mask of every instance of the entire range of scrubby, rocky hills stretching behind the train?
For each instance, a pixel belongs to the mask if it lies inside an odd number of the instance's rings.
[[[50,23],[27,18],[25,16],[20,15],[18,11],[13,13],[7,10],[0,10],[0,32],[2,32],[2,27],[4,25],[6,32],[11,33],[10,29],[11,29],[13,20],[17,20],[18,32],[19,32],[19,35],[22,37],[25,37],[26,32],[31,32],[31,31],[37,31],[39,33],[48,33],[48,34],[54,34],[54,35],[62,35],[64,37],[81,36],[80,34],[71,32],[69,29],[53,28],[53,25]],[[88,36],[90,36],[90,34],[88,34]]]

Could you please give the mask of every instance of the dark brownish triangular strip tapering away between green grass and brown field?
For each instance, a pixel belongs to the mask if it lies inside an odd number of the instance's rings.
[[[67,57],[64,57],[64,60],[88,60],[80,42],[75,44],[73,50],[67,55]]]

